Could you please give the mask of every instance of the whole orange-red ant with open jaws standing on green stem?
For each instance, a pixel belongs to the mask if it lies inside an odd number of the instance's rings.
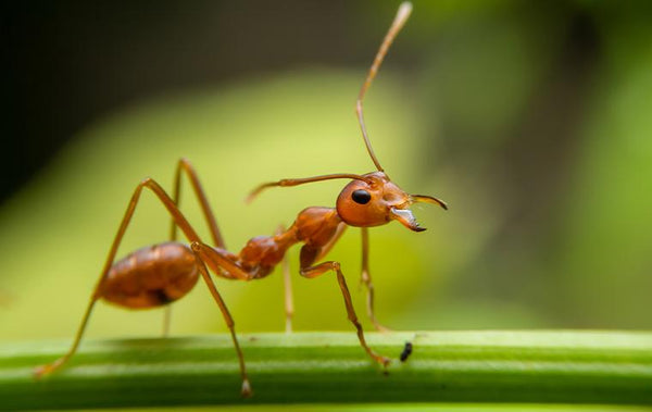
[[[376,165],[375,172],[364,175],[337,173],[305,178],[290,178],[259,186],[248,197],[248,201],[251,201],[262,190],[269,187],[298,186],[329,179],[351,180],[344,186],[337,198],[336,208],[306,208],[299,213],[297,220],[288,229],[280,229],[274,236],[254,237],[250,239],[237,254],[231,253],[226,249],[215,216],[213,215],[203,188],[190,162],[186,159],[181,159],[178,162],[175,173],[174,195],[172,198],[152,178],[143,179],[138,184],[131,196],[71,348],[63,357],[54,362],[39,366],[35,371],[36,376],[41,377],[57,371],[73,357],[79,346],[90,313],[99,299],[104,299],[105,301],[128,309],[163,307],[188,294],[188,291],[195,287],[199,277],[201,277],[220,307],[222,315],[230,332],[242,377],[241,394],[243,397],[251,396],[251,386],[247,376],[242,350],[240,349],[235,333],[234,320],[222,299],[222,296],[217,291],[217,288],[209,274],[209,270],[216,276],[227,279],[260,279],[269,275],[274,267],[284,261],[286,251],[294,244],[303,244],[300,253],[301,276],[313,278],[328,272],[335,272],[344,298],[349,321],[355,326],[360,345],[375,362],[378,362],[383,366],[387,366],[390,360],[376,353],[365,341],[362,325],[358,321],[358,315],[353,309],[351,295],[344,275],[341,272],[340,263],[336,261],[316,262],[321,261],[330,251],[347,226],[361,227],[362,282],[367,288],[367,312],[375,327],[377,329],[384,329],[383,325],[380,325],[374,316],[374,288],[369,276],[367,259],[367,228],[385,225],[391,221],[398,221],[411,230],[422,232],[425,230],[425,228],[418,225],[410,210],[412,203],[434,203],[447,209],[443,201],[430,196],[409,195],[389,179],[389,176],[385,173],[378,159],[374,154],[364,125],[362,110],[364,95],[376,76],[389,46],[408,21],[411,11],[411,3],[404,2],[400,5],[397,16],[380,45],[380,49],[374,59],[358,96],[355,112],[358,114],[366,150]],[[198,198],[215,246],[204,244],[178,209],[180,177],[184,173],[190,180],[190,185]],[[171,241],[136,250],[126,258],[114,263],[117,248],[131,221],[131,216],[143,189],[151,190],[170,212],[172,216]],[[190,242],[189,247],[186,244],[176,241],[177,227],[181,229]],[[289,295],[288,291],[289,284],[286,282],[286,297]],[[286,315],[287,324],[289,326],[291,301],[288,304],[287,298]]]

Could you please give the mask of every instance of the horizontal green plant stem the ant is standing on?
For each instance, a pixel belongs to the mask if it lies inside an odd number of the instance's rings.
[[[321,402],[563,402],[652,404],[652,334],[423,332],[240,335],[254,396],[241,399],[227,335],[88,340],[41,380],[35,366],[68,341],[0,346],[0,409]],[[405,341],[414,350],[398,360]]]

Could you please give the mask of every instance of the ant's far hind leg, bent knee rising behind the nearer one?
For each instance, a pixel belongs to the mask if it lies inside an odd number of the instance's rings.
[[[186,172],[186,175],[188,176],[188,179],[190,180],[190,185],[192,186],[192,189],[195,190],[195,196],[197,197],[199,204],[201,207],[201,210],[204,214],[204,219],[206,220],[206,223],[209,225],[209,229],[211,232],[211,236],[213,238],[214,244],[221,248],[225,248],[224,239],[222,238],[222,234],[220,233],[220,228],[217,227],[217,222],[215,221],[215,215],[213,214],[213,211],[209,204],[209,200],[206,199],[204,190],[203,190],[201,184],[199,183],[199,177],[197,176],[197,172],[195,171],[195,167],[192,167],[192,164],[190,163],[190,161],[188,159],[181,158],[181,159],[179,159],[179,161],[177,163],[176,172],[174,174],[174,186],[173,186],[174,191],[173,191],[173,197],[172,197],[174,203],[177,205],[177,208],[179,207],[179,203],[180,203],[181,172]],[[170,227],[170,240],[174,241],[174,240],[176,240],[176,237],[177,237],[177,225],[175,224],[174,219],[173,219],[172,225]],[[167,337],[167,335],[170,333],[170,324],[171,324],[171,320],[172,320],[172,307],[166,305],[164,311],[165,311],[165,314],[163,315],[163,337]]]

